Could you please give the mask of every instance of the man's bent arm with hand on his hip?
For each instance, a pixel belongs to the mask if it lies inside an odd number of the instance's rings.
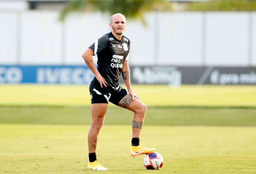
[[[86,63],[86,65],[88,66],[88,68],[90,68],[90,70],[94,73],[95,77],[97,78],[97,80],[100,82],[100,86],[101,88],[103,87],[102,85],[104,85],[105,87],[107,87],[107,81],[105,78],[103,78],[100,73],[98,72],[96,66],[94,65],[94,61],[92,59],[92,56],[94,56],[94,52],[88,48],[83,54],[82,57],[84,58],[84,61]]]

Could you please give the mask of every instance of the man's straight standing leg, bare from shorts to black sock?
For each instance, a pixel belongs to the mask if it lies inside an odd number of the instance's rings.
[[[96,152],[98,134],[107,112],[107,103],[91,104],[92,123],[88,132],[89,153]]]

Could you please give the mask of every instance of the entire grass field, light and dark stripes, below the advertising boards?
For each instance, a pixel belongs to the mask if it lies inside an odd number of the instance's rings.
[[[110,104],[97,144],[108,171],[100,173],[256,173],[256,86],[133,90],[148,106],[141,144],[164,166],[146,170],[144,156],[130,156],[132,112]],[[0,85],[0,96],[0,173],[96,172],[87,170],[87,85]]]

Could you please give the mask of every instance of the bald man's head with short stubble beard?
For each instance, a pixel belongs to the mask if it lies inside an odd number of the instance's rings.
[[[122,15],[115,15],[110,27],[116,34],[123,34],[126,28],[125,18]]]

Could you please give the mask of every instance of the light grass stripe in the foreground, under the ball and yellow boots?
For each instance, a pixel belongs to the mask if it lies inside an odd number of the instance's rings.
[[[89,173],[89,125],[0,124],[1,173]],[[145,125],[141,143],[162,154],[157,173],[255,173],[256,127]],[[131,127],[103,125],[97,159],[101,173],[146,173],[129,154]],[[246,142],[246,143],[245,143]]]

